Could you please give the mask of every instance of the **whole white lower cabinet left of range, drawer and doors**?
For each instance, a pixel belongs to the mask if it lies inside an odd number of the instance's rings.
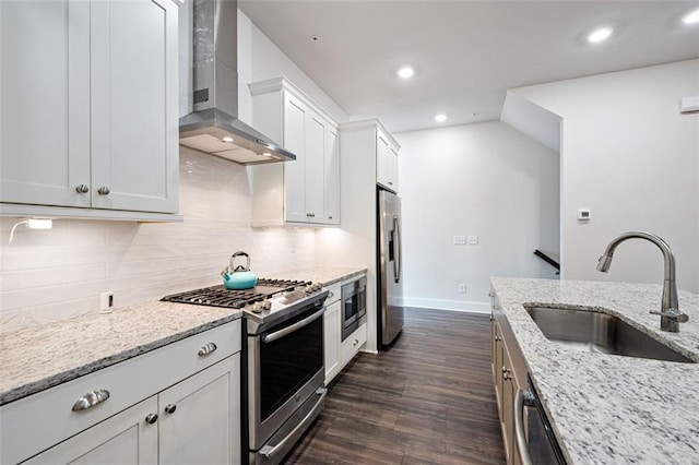
[[[0,463],[239,463],[241,337],[237,320],[1,406]]]

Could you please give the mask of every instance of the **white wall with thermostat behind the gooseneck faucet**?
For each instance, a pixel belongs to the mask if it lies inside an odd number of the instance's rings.
[[[699,291],[699,60],[514,90],[562,118],[561,260],[567,279],[662,283],[650,242],[621,245],[608,274],[597,258],[617,235],[645,230],[675,252],[677,284]],[[589,207],[592,219],[578,223]]]

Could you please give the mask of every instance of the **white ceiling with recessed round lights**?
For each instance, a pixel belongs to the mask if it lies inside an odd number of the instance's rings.
[[[392,132],[497,120],[508,88],[699,58],[679,1],[239,0],[352,119]],[[614,36],[589,45],[599,25]],[[318,40],[311,37],[317,36]],[[412,63],[411,81],[394,75]],[[473,115],[476,114],[474,117]]]

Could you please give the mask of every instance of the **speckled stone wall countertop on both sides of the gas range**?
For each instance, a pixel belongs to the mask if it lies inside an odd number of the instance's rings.
[[[263,276],[328,286],[366,273],[310,267]],[[187,289],[182,289],[187,290]],[[0,334],[0,405],[241,318],[240,310],[162,301],[88,312]]]

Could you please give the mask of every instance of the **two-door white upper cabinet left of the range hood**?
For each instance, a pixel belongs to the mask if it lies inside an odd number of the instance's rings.
[[[0,2],[3,207],[178,211],[177,14],[173,0]]]

